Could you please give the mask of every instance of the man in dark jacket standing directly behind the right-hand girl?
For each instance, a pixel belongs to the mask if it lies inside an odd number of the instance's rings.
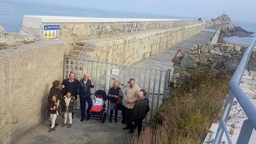
[[[77,85],[78,85],[79,80],[75,79],[75,73],[70,73],[69,74],[69,78],[64,79],[61,87],[62,87],[62,93],[63,95],[67,95],[68,91],[71,91],[73,96],[76,99],[76,89],[77,89]],[[72,112],[72,119],[74,115],[74,112]]]

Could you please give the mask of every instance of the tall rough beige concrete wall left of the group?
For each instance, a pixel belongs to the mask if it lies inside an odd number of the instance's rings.
[[[0,50],[0,144],[10,144],[46,119],[46,99],[62,80],[63,41],[38,41]]]

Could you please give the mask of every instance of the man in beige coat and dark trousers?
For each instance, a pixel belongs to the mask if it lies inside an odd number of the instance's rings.
[[[130,78],[129,83],[126,86],[126,92],[124,99],[126,102],[126,127],[123,129],[130,129],[130,133],[134,131],[134,125],[132,124],[133,107],[137,101],[137,95],[140,88],[136,85],[134,78]]]

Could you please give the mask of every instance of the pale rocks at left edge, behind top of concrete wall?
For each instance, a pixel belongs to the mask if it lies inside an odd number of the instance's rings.
[[[8,33],[4,27],[0,25],[0,49],[33,43],[36,38],[33,36],[25,36],[18,33]]]

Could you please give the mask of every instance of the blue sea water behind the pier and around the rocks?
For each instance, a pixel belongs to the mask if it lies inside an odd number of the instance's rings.
[[[146,14],[136,12],[122,12],[96,8],[84,8],[61,4],[47,4],[20,0],[0,0],[0,25],[7,32],[19,33],[22,28],[24,15],[44,16],[80,16],[80,17],[112,17],[112,18],[163,18],[163,19],[197,19],[196,17]],[[204,18],[209,19],[209,18]],[[232,21],[243,29],[254,32],[256,37],[256,23]],[[250,44],[253,37],[224,37],[228,43]]]

